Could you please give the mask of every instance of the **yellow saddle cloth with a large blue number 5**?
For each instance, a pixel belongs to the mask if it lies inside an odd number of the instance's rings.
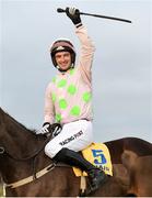
[[[95,165],[102,167],[105,174],[113,176],[113,166],[110,161],[110,154],[108,147],[103,143],[92,143],[85,150],[82,151],[83,157]],[[73,172],[77,177],[87,176],[85,172],[80,168],[73,167]]]

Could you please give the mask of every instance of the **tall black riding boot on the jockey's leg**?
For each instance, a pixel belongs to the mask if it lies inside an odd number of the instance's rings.
[[[95,191],[106,180],[107,176],[105,173],[95,167],[89,161],[86,161],[80,153],[69,148],[62,148],[55,157],[57,162],[63,162],[68,165],[79,167],[81,170],[85,170],[89,175],[91,191]]]

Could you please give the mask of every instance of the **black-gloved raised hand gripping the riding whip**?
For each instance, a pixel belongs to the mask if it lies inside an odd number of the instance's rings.
[[[82,25],[81,23],[81,18],[80,18],[80,11],[75,8],[66,8],[66,14],[71,19],[71,21],[74,23],[74,25],[80,24],[79,26]]]

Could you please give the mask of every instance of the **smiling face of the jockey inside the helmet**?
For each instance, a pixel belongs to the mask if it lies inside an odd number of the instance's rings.
[[[69,52],[58,52],[55,58],[60,69],[68,70],[71,67],[71,54]]]

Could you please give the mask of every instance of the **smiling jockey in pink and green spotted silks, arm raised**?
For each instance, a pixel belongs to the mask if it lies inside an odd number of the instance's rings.
[[[79,10],[67,8],[66,14],[75,25],[81,44],[80,59],[75,67],[75,50],[69,40],[52,43],[50,56],[58,74],[46,88],[45,121],[39,133],[48,133],[58,123],[54,139],[45,146],[46,155],[85,170],[94,191],[107,177],[78,152],[93,142],[91,68],[95,48],[81,23]],[[61,131],[57,134],[59,129]]]

